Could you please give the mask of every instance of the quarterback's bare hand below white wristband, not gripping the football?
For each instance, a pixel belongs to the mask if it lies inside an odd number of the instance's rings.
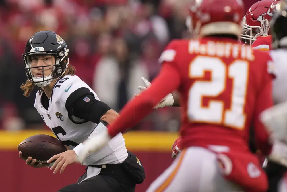
[[[50,170],[55,169],[53,172],[55,174],[61,168],[60,173],[63,173],[67,165],[77,162],[77,155],[74,150],[67,150],[58,155],[54,155],[47,161],[47,163],[51,163],[55,159],[57,160],[54,162]]]

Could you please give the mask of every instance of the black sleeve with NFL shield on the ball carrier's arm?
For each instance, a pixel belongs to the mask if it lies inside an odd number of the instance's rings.
[[[111,108],[102,101],[95,99],[95,96],[88,88],[79,88],[75,90],[66,101],[66,109],[69,118],[74,123],[72,115],[80,119],[99,123],[100,118]],[[80,123],[84,123],[80,122]]]

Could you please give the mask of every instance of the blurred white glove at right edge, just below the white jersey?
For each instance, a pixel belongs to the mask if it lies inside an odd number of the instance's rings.
[[[287,102],[266,109],[260,120],[276,140],[287,143]]]

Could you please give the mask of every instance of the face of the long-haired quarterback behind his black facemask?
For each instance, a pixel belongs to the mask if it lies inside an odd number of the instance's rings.
[[[49,76],[54,69],[55,57],[52,55],[32,56],[31,60],[31,67],[36,67],[31,69],[31,73],[34,77]],[[50,65],[51,67],[49,67]]]

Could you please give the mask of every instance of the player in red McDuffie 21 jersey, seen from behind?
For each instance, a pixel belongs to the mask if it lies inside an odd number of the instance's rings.
[[[272,106],[272,62],[267,52],[238,43],[243,10],[241,0],[193,1],[191,26],[199,39],[168,45],[150,88],[129,102],[106,132],[84,144],[80,160],[178,90],[183,150],[147,191],[266,191],[267,176],[248,146],[250,123],[255,123],[255,138],[265,155],[286,146],[272,142],[259,120]]]

